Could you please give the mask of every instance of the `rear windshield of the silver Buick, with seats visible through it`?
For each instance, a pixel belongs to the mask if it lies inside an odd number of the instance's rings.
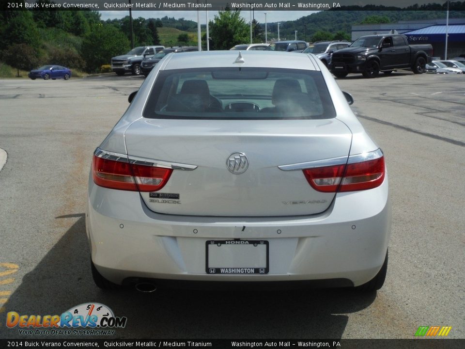
[[[161,71],[143,112],[164,119],[329,119],[321,72],[276,68]]]

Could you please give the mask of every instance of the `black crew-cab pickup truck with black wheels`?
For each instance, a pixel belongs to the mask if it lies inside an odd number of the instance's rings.
[[[344,78],[349,73],[375,78],[380,71],[390,74],[394,69],[411,69],[415,74],[421,74],[432,54],[431,45],[409,45],[405,35],[366,35],[348,48],[334,52],[330,70],[337,78]]]

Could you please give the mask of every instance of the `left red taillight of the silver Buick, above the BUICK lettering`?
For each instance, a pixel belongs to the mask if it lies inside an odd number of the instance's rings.
[[[94,183],[110,189],[157,191],[165,186],[172,171],[167,168],[129,164],[93,156]]]

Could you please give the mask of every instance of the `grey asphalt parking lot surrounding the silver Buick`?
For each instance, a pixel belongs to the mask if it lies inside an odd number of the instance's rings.
[[[93,150],[140,77],[0,80],[0,338],[6,314],[60,315],[87,302],[127,317],[108,338],[465,338],[465,77],[339,79],[383,149],[393,204],[387,281],[347,290],[104,292],[84,212]],[[40,338],[40,335],[31,336]],[[101,338],[107,338],[102,336]]]

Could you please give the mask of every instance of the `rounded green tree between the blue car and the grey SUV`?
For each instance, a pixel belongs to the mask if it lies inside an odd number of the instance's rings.
[[[82,40],[81,54],[87,70],[97,71],[101,65],[109,64],[111,57],[129,51],[129,40],[118,28],[110,24],[93,26]]]

